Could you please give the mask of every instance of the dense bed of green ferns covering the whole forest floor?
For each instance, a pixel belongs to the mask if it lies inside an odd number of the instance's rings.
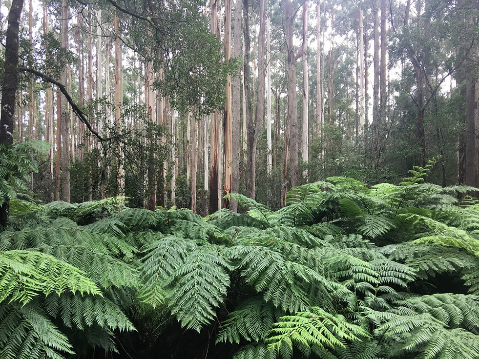
[[[477,359],[479,202],[433,162],[207,218],[9,195],[0,358]]]

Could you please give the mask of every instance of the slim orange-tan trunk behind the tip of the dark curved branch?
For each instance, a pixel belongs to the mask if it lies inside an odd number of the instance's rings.
[[[123,56],[120,41],[119,19],[115,11],[113,18],[115,27],[115,126],[118,132],[122,130],[121,103],[123,101]],[[123,169],[123,151],[117,148],[117,196],[125,196],[125,170]]]

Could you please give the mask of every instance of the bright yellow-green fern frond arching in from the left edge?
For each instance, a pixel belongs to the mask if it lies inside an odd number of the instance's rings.
[[[34,297],[66,291],[100,295],[78,268],[40,252],[0,252],[0,303],[28,303]]]

